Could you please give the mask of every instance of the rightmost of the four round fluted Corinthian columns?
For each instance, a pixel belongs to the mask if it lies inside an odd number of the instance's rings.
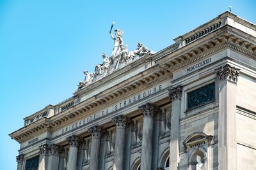
[[[143,113],[143,133],[141,146],[141,169],[151,170],[152,133],[154,113],[159,110],[154,104],[144,104],[139,107]]]

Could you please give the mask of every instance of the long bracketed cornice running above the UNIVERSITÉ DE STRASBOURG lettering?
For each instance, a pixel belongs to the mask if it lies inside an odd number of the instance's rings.
[[[81,117],[92,115],[93,113],[102,110],[102,108],[111,106],[118,101],[122,101],[127,97],[131,97],[138,92],[141,92],[150,87],[154,87],[154,85],[157,85],[162,81],[170,80],[171,78],[172,74],[170,74],[168,71],[161,67],[154,66],[141,73],[140,78],[135,77],[134,80],[136,81],[132,81],[123,87],[122,85],[118,85],[118,87],[120,86],[122,88],[117,88],[115,91],[108,89],[109,92],[106,92],[106,94],[102,95],[102,97],[97,97],[96,99],[94,96],[93,99],[90,99],[92,102],[88,102],[86,100],[82,103],[76,104],[72,108],[68,108],[58,115],[37,120],[33,124],[29,124],[26,127],[22,127],[18,131],[13,132],[10,134],[10,136],[19,142],[23,142],[30,139],[32,136],[41,134],[42,132],[55,131],[56,129],[60,129],[61,127],[65,126],[65,124],[76,121],[77,118],[79,119]],[[110,95],[112,97],[109,97],[108,101],[102,100],[104,96]],[[40,131],[36,129],[40,129]]]

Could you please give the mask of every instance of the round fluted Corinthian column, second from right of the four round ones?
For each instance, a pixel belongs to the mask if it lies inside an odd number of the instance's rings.
[[[116,142],[114,155],[114,169],[122,170],[124,165],[124,140],[125,140],[125,126],[131,120],[122,115],[112,119],[116,124]]]

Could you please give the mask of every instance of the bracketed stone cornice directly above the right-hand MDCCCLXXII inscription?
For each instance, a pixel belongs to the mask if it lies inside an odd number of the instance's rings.
[[[216,52],[220,52],[225,48],[230,48],[239,53],[243,53],[244,55],[256,60],[256,45],[226,33],[218,38],[208,41],[207,43],[197,46],[193,50],[180,53],[180,55],[175,56],[175,58],[173,57],[173,59],[161,64],[161,66],[173,73],[188,66],[189,64],[204,59],[205,57],[209,57]]]

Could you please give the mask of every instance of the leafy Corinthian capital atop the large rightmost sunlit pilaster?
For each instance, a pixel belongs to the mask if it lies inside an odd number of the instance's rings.
[[[239,71],[240,69],[231,67],[229,64],[226,64],[225,66],[216,69],[216,75],[218,80],[229,80],[236,83],[237,77],[239,76]]]

